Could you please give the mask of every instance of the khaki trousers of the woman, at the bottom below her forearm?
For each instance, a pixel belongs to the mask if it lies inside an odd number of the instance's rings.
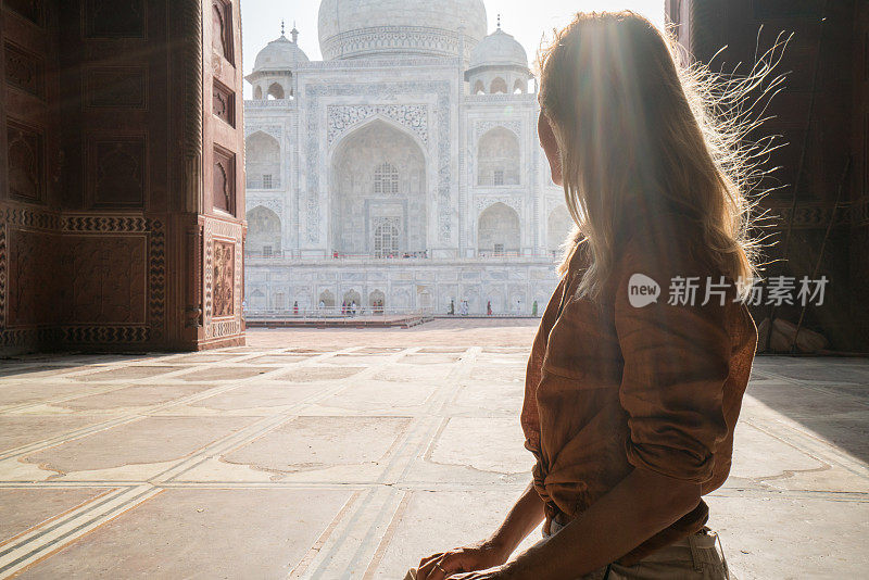
[[[554,534],[564,526],[553,520],[551,528]],[[547,538],[546,532],[543,537]],[[716,547],[717,541],[718,534],[704,528],[633,566],[612,564],[576,580],[736,580],[728,572],[727,564]]]

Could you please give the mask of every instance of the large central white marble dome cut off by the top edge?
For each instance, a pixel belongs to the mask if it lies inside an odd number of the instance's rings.
[[[463,47],[464,56],[487,30],[482,0],[323,0],[319,5],[326,60],[458,56]]]

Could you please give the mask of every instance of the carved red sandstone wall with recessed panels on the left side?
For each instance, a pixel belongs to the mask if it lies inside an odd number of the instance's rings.
[[[243,342],[240,14],[213,2],[224,21],[196,0],[3,3],[0,354]]]

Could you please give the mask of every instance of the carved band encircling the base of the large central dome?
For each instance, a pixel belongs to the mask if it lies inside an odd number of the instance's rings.
[[[466,37],[468,54],[474,43],[474,39]],[[333,36],[324,43],[323,55],[325,60],[333,60],[405,49],[452,56],[458,54],[461,48],[462,35],[457,33],[425,26],[376,26]]]

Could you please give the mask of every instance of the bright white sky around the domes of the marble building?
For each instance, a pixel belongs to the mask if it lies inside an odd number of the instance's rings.
[[[512,34],[533,60],[544,34],[566,25],[571,14],[593,10],[629,9],[664,26],[664,0],[486,0],[489,31],[496,26],[501,14],[502,28]],[[242,34],[244,37],[244,74],[253,67],[256,53],[280,36],[280,21],[287,21],[287,37],[293,22],[299,29],[299,46],[312,61],[320,60],[317,38],[317,0],[242,0]],[[250,86],[244,84],[245,97]]]

